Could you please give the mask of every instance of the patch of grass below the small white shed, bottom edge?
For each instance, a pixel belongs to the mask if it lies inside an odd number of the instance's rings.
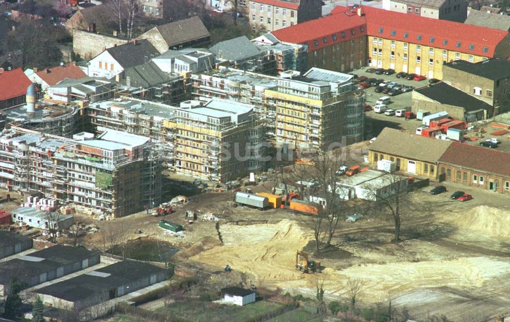
[[[185,318],[190,322],[238,322],[281,307],[281,304],[269,301],[258,301],[243,307],[203,302],[176,302],[157,311]]]

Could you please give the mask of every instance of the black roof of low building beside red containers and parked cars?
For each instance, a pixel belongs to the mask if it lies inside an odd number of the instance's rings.
[[[491,109],[492,106],[486,102],[477,99],[445,82],[439,82],[433,86],[422,87],[415,90],[427,98],[441,104],[464,107],[468,112],[480,109]]]

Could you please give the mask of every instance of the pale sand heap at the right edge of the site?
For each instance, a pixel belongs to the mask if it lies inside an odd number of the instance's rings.
[[[510,237],[510,211],[478,206],[458,216],[453,223],[465,228],[499,238]]]

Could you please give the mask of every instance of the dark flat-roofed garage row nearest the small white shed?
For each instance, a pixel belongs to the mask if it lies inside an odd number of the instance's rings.
[[[165,269],[143,262],[124,260],[42,287],[36,292],[47,306],[81,311],[165,279]]]

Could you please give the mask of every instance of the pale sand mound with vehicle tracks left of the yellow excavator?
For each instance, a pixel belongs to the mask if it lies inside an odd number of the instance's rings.
[[[224,246],[215,247],[190,259],[214,266],[230,265],[234,270],[252,274],[257,280],[300,279],[296,271],[296,251],[312,237],[295,222],[249,226],[221,225]]]

